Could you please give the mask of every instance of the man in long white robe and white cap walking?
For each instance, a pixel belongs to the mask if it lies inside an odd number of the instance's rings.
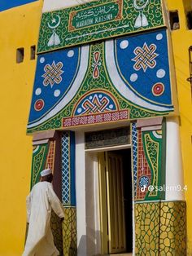
[[[52,187],[50,169],[41,171],[39,183],[27,197],[28,237],[23,256],[57,256],[58,249],[50,229],[51,209],[63,219],[63,208]]]

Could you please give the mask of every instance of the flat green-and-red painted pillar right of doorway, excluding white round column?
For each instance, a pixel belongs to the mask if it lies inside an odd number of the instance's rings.
[[[159,200],[164,192],[162,117],[132,124],[135,255],[159,255]]]

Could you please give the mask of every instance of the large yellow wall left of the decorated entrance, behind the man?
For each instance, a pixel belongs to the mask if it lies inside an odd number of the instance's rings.
[[[42,1],[0,12],[0,256],[20,256],[26,227],[25,197],[30,186],[32,138],[26,135]],[[16,49],[24,62],[16,64]]]

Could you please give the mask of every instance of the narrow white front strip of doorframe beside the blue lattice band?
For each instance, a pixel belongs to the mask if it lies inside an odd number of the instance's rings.
[[[87,255],[85,210],[85,143],[84,133],[76,132],[76,230],[77,255]]]

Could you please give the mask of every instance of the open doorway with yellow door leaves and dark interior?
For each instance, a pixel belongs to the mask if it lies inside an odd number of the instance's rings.
[[[103,254],[133,252],[131,150],[98,152]]]

